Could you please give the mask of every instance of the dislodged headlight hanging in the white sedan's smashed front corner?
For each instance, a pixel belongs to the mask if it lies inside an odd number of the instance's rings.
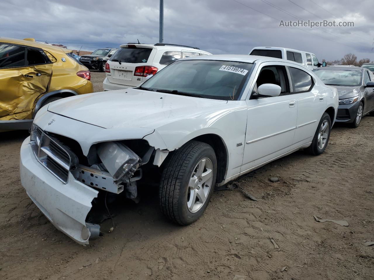
[[[139,157],[120,142],[99,144],[97,154],[116,181],[126,181],[137,169]],[[135,168],[133,168],[135,166]]]

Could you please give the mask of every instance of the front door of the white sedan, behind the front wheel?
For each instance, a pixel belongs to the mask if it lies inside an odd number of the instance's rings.
[[[248,172],[289,152],[294,139],[297,100],[291,93],[286,63],[266,62],[255,75],[256,83],[247,102],[247,129],[241,173]],[[277,97],[256,96],[261,84],[277,84]]]

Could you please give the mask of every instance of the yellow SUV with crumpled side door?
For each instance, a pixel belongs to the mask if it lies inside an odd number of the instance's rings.
[[[0,132],[28,129],[47,103],[93,92],[90,80],[71,50],[0,37]]]

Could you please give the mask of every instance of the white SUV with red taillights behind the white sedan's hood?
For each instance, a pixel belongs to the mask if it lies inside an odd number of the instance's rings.
[[[104,90],[119,90],[141,85],[145,77],[156,74],[175,60],[190,56],[211,55],[197,47],[175,44],[121,45],[105,65]]]

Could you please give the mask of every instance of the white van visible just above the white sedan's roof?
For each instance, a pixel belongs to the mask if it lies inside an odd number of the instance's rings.
[[[282,47],[254,47],[248,55],[268,56],[291,60],[304,65],[310,70],[322,66],[322,63],[318,62],[318,58],[314,53]]]

